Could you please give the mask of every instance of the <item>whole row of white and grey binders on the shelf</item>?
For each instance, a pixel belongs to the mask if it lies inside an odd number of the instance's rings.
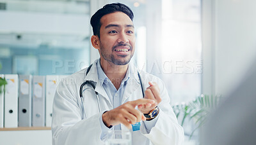
[[[65,77],[0,74],[7,81],[0,94],[0,128],[51,127],[54,94]]]

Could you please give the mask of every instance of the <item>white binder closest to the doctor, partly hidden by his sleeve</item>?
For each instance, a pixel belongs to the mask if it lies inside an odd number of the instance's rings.
[[[58,85],[58,76],[46,76],[46,93],[45,93],[45,126],[51,127],[52,123],[52,103],[56,88]]]

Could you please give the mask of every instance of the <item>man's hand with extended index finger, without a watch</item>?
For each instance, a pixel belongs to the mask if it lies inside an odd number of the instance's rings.
[[[146,120],[145,116],[135,109],[136,106],[152,106],[156,102],[151,99],[138,99],[126,102],[121,106],[116,107],[104,114],[102,114],[102,121],[109,127],[110,125],[118,125],[122,123],[127,128],[132,128],[131,124],[140,122],[141,120]]]

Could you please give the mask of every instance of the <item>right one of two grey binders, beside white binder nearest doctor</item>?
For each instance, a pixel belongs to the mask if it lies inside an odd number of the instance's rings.
[[[32,126],[45,126],[45,76],[33,76]]]

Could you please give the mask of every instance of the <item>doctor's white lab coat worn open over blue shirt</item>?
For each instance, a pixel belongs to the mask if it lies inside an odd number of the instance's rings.
[[[97,74],[97,60],[93,63],[86,76],[86,69],[83,69],[67,78],[63,79],[58,85],[53,102],[52,112],[52,144],[104,144],[100,139],[100,115],[104,111],[113,109],[108,95],[99,83]],[[140,79],[138,78],[136,67],[129,65],[131,72],[134,72],[134,78],[128,79],[124,91],[122,104],[129,100],[142,98]],[[177,123],[177,118],[170,106],[170,97],[164,87],[163,81],[148,74],[140,72],[141,81],[144,89],[148,86],[148,81],[155,81],[161,89],[162,102],[158,105],[160,108],[159,118],[150,132],[147,132],[145,124],[141,122],[140,130],[132,132],[133,145],[149,144],[182,144],[184,140],[183,128]],[[87,89],[83,93],[84,108],[87,118],[83,114],[83,106],[79,97],[79,88],[86,81],[93,81],[95,91],[99,93],[99,103],[101,112],[99,113],[97,97],[93,89]],[[84,88],[91,87],[90,85]],[[121,124],[122,130],[127,128]]]

